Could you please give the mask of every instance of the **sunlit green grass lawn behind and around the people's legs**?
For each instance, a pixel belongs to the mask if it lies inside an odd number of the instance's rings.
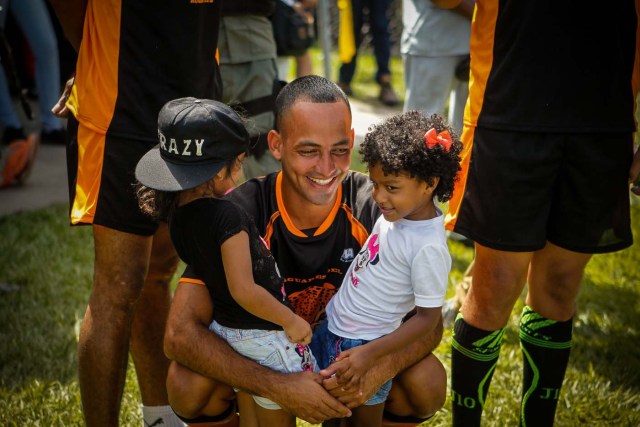
[[[319,52],[313,55],[317,61]],[[362,59],[360,70],[373,69],[372,63],[366,65],[370,56]],[[394,58],[392,67],[397,61]],[[400,79],[401,73],[396,74]],[[376,102],[377,87],[372,77],[365,77],[364,71],[356,75],[356,97]],[[401,93],[402,85],[396,87]],[[640,238],[638,198],[632,206],[632,223]],[[75,350],[91,289],[91,231],[69,227],[66,206],[54,205],[0,217],[0,236],[0,425],[82,425]],[[456,283],[473,251],[456,242],[450,243],[450,250],[451,283]],[[597,255],[587,266],[556,425],[640,425],[639,266],[637,244]],[[516,325],[521,309],[519,303],[507,329],[485,425],[517,425],[522,362]],[[447,370],[450,344],[446,331],[436,355]],[[120,420],[125,426],[141,425],[131,363],[129,368]],[[425,425],[450,425],[450,408],[447,401]],[[302,421],[298,425],[309,426]]]

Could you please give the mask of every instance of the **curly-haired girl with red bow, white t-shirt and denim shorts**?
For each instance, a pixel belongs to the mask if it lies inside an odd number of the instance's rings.
[[[355,381],[380,358],[437,327],[451,256],[434,198],[451,197],[461,150],[442,118],[417,111],[391,117],[366,135],[360,154],[382,216],[314,333],[311,347],[325,369],[321,374]],[[414,307],[415,315],[403,323]],[[390,389],[391,380],[353,410],[348,424],[380,425]],[[388,412],[403,413],[394,402],[387,402]]]

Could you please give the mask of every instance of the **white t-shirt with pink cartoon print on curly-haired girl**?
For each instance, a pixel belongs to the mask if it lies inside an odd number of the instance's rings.
[[[396,330],[414,306],[442,307],[451,255],[437,214],[424,221],[378,218],[327,305],[331,332],[372,340]]]

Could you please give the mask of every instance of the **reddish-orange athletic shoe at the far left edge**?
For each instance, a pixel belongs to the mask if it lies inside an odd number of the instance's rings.
[[[5,188],[14,182],[24,184],[33,167],[40,137],[29,134],[25,139],[17,139],[2,148],[0,158],[0,188]]]

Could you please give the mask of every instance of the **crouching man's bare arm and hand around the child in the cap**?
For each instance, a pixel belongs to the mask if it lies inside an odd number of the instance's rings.
[[[209,331],[213,305],[204,286],[181,283],[171,303],[164,349],[167,357],[208,378],[277,402],[311,423],[351,412],[311,372],[283,374],[236,353]]]

